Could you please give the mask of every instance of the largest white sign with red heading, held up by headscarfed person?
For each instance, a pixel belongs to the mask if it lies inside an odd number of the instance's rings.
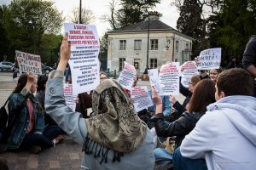
[[[71,42],[68,63],[72,73],[73,95],[94,90],[100,83],[100,42],[96,26],[66,23],[64,27]]]

